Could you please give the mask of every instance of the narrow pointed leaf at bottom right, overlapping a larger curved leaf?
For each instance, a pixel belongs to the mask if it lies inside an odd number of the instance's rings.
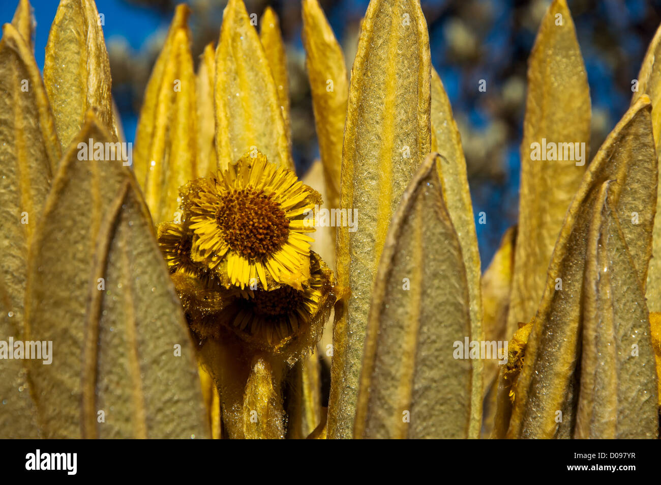
[[[608,200],[598,196],[588,233],[580,392],[574,437],[658,437],[658,378],[641,282]]]

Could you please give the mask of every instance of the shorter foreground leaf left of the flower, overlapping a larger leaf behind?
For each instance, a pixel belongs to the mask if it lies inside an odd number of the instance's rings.
[[[127,182],[114,199],[95,248],[81,363],[83,438],[210,437],[195,348],[136,190]],[[108,287],[99,290],[98,281]],[[53,371],[71,364],[58,361]]]

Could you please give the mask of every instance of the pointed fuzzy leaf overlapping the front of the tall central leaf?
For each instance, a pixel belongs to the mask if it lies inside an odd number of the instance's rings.
[[[393,216],[372,292],[355,437],[477,438],[481,381],[461,244],[429,155]],[[473,386],[478,386],[477,400]]]

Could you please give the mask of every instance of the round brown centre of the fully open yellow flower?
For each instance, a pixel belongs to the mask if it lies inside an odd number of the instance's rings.
[[[289,236],[289,220],[273,194],[252,187],[221,195],[215,218],[233,251],[254,259],[272,255]]]

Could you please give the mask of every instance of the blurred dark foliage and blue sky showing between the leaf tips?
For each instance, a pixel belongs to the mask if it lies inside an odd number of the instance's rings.
[[[151,66],[163,44],[173,0],[97,0],[104,14],[113,95],[128,141]],[[197,56],[219,34],[226,0],[188,0],[193,11]],[[288,46],[292,95],[293,152],[303,173],[319,156],[315,140],[299,0],[247,0],[261,16],[271,5],[280,16]],[[360,19],[368,0],[320,0],[351,65]],[[550,0],[422,0],[430,31],[432,62],[452,103],[466,154],[483,268],[506,228],[516,223],[520,183],[519,145],[525,105],[527,57]],[[10,22],[17,0],[0,0],[0,19]],[[44,62],[48,30],[57,0],[32,0],[38,23],[36,59]],[[661,22],[661,0],[568,0],[588,70],[592,98],[592,140],[596,152],[631,99],[647,45]],[[480,92],[480,79],[486,92]],[[541,196],[541,195],[540,195]]]

